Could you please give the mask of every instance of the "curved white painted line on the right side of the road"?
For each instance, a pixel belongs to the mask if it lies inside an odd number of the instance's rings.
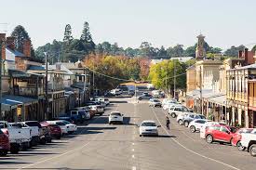
[[[156,118],[157,122],[163,127],[163,129],[166,131],[166,133],[168,134],[168,136],[170,136],[170,134],[168,133],[168,130],[167,130],[166,128],[164,128],[163,124],[161,124],[160,120],[159,120],[158,117],[156,116],[155,111],[154,111],[153,109],[152,109],[152,111],[153,111],[154,114],[155,114],[155,118]],[[225,165],[225,166],[228,166],[228,167],[230,167],[230,168],[232,168],[232,169],[240,170],[239,168],[236,168],[236,167],[233,166],[233,165],[230,165],[230,164],[227,164],[227,163],[223,163],[223,162],[218,161],[218,160],[215,160],[215,159],[213,159],[213,158],[209,158],[208,156],[202,155],[202,154],[200,154],[200,153],[198,153],[198,152],[196,152],[196,151],[194,151],[194,150],[190,150],[190,149],[186,148],[184,145],[182,145],[182,143],[180,143],[180,142],[179,142],[178,140],[176,140],[175,138],[171,138],[171,139],[172,139],[175,143],[177,143],[178,145],[180,145],[183,149],[188,150],[188,151],[194,153],[194,154],[197,155],[197,156],[200,156],[200,157],[202,157],[202,158],[208,159],[208,160],[210,160],[210,161],[212,161],[212,162],[215,162],[215,163],[221,163],[221,164],[223,164],[223,165]]]

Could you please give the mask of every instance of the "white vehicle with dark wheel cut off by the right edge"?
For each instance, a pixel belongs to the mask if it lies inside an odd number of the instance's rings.
[[[256,129],[251,133],[241,134],[241,145],[247,149],[251,156],[256,157]]]

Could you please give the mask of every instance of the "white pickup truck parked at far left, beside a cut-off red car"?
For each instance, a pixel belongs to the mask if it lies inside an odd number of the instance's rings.
[[[31,129],[29,127],[19,127],[7,121],[0,121],[0,128],[9,137],[11,153],[17,154],[21,148],[30,146]]]

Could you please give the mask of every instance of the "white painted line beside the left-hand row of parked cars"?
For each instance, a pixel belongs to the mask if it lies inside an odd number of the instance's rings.
[[[119,104],[116,105],[115,111],[117,111],[118,107],[119,107]],[[96,118],[95,121],[98,120],[100,117],[101,117],[101,116],[99,116],[98,118]],[[105,124],[104,126],[107,126],[107,124]],[[61,156],[64,156],[64,155],[69,154],[69,153],[72,153],[72,152],[74,152],[74,151],[76,151],[76,150],[82,150],[82,149],[84,149],[86,146],[88,146],[88,144],[89,144],[91,141],[94,141],[99,135],[100,135],[100,133],[97,134],[92,140],[89,140],[88,143],[86,143],[86,144],[83,145],[82,147],[76,148],[76,149],[74,149],[74,150],[69,150],[69,151],[66,151],[66,152],[64,152],[64,153],[62,153],[62,154],[60,154],[60,155],[56,155],[56,156],[53,156],[53,157],[51,157],[51,158],[47,158],[47,159],[45,159],[45,160],[42,160],[42,161],[39,161],[39,162],[36,162],[36,163],[32,163],[32,164],[29,164],[29,165],[26,165],[26,166],[23,166],[23,167],[21,167],[21,168],[18,168],[18,170],[20,170],[20,169],[25,169],[25,168],[34,166],[34,165],[36,165],[36,164],[45,163],[45,162],[47,162],[47,161],[50,161],[50,160],[53,160],[53,159],[56,159],[56,158],[60,158]]]

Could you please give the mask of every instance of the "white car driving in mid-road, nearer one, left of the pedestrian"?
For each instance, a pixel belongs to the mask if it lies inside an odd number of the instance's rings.
[[[160,125],[156,125],[155,121],[143,121],[140,124],[140,137],[141,136],[158,136],[157,127]]]

